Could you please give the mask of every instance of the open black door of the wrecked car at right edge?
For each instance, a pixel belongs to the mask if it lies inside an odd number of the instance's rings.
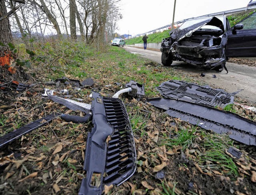
[[[256,12],[241,20],[242,30],[230,28],[226,34],[226,57],[256,57]]]

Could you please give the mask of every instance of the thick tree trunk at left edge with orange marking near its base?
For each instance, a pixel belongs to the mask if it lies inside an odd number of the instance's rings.
[[[4,0],[0,0],[0,18],[7,16],[7,10]],[[10,28],[10,22],[8,17],[0,21],[0,66],[12,65],[14,59],[14,53],[8,47],[8,44],[12,43],[12,33]],[[8,68],[8,71],[15,73],[12,67]]]

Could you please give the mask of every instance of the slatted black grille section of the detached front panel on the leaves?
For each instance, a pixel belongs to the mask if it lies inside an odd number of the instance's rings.
[[[103,98],[107,121],[114,127],[108,142],[104,183],[113,183],[127,172],[134,171],[136,155],[128,115],[117,98]]]

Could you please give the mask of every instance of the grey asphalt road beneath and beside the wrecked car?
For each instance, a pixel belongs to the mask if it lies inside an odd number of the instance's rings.
[[[152,61],[161,63],[161,52],[138,49],[135,47],[127,47],[124,49],[131,53],[141,55]],[[196,81],[204,81],[212,88],[221,88],[225,89],[229,93],[233,93],[242,89],[236,96],[244,100],[247,100],[252,105],[256,104],[256,67],[251,67],[247,65],[235,64],[235,63],[226,63],[228,69],[228,74],[223,70],[221,73],[216,71],[198,69],[191,67],[190,65],[184,62],[174,61],[171,67],[166,67],[166,69],[174,68],[176,71],[194,77]],[[201,73],[205,73],[205,77],[200,77]],[[213,78],[213,75],[216,75],[216,78]]]

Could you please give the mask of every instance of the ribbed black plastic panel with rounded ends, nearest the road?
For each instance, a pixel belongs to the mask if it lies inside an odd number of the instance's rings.
[[[212,89],[209,86],[200,86],[185,81],[166,81],[157,90],[164,97],[185,100],[206,106],[220,106],[224,108],[234,102],[234,95],[223,89]]]

